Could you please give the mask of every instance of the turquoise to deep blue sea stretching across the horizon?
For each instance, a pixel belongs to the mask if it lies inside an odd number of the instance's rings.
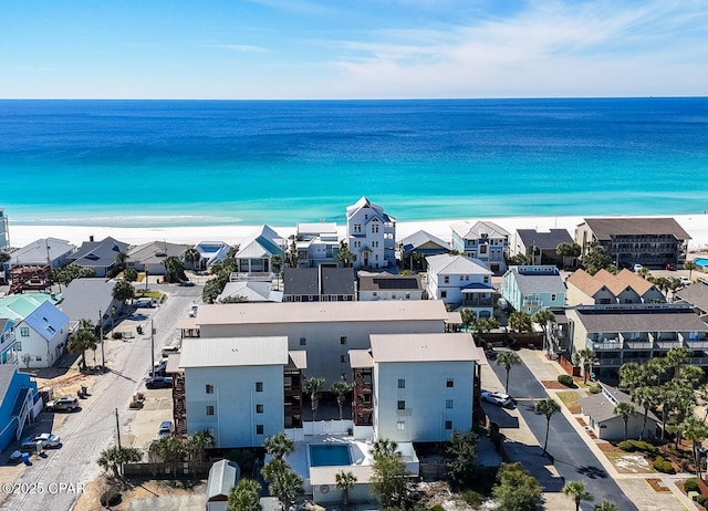
[[[0,101],[13,225],[708,209],[708,98]]]

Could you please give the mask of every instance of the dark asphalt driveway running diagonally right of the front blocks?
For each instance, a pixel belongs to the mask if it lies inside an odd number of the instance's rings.
[[[490,364],[500,382],[507,378],[507,372],[496,363]],[[529,449],[517,444],[506,444],[512,461],[521,461],[524,468],[539,480],[546,492],[560,492],[564,482],[583,481],[594,502],[584,502],[583,510],[592,510],[603,500],[614,502],[620,511],[636,511],[636,507],[615,481],[610,478],[602,463],[573,429],[565,416],[555,414],[549,428],[549,457],[543,457],[545,439],[545,415],[533,411],[535,403],[549,397],[541,383],[522,363],[513,366],[509,373],[509,394],[517,398],[517,407],[527,425],[539,440],[541,447]],[[552,477],[546,466],[553,465],[562,479]]]

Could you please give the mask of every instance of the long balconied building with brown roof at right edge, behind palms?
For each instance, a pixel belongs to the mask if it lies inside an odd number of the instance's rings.
[[[689,304],[577,305],[565,315],[569,357],[592,350],[600,378],[617,379],[622,364],[643,364],[679,346],[688,348],[689,364],[708,367],[708,325]]]

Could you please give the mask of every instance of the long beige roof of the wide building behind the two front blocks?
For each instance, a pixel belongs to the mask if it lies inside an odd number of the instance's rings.
[[[197,325],[367,321],[445,321],[440,300],[378,302],[283,302],[199,305]]]

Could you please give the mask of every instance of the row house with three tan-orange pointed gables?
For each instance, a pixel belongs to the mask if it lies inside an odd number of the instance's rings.
[[[656,285],[626,269],[616,275],[607,270],[594,275],[577,270],[568,278],[566,284],[569,305],[666,302]]]

